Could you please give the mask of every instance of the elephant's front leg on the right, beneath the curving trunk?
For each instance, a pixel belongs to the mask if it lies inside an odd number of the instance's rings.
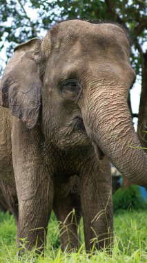
[[[110,163],[89,163],[81,176],[81,209],[86,251],[112,243],[112,184]]]

